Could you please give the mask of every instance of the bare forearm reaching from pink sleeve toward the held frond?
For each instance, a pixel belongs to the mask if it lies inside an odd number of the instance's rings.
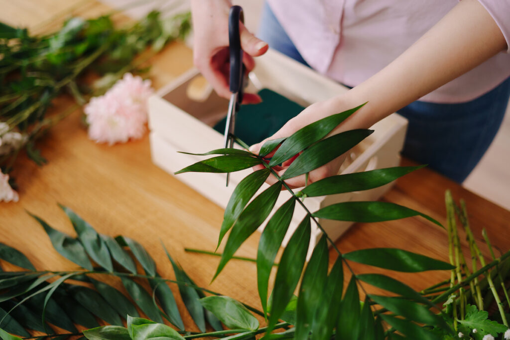
[[[342,129],[368,128],[504,49],[503,34],[486,9],[463,0],[391,64],[331,104],[368,101]]]

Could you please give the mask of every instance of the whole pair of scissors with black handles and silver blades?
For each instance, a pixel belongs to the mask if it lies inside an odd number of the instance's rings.
[[[234,130],[236,126],[236,113],[243,101],[246,67],[243,64],[243,50],[239,34],[239,21],[243,22],[243,9],[241,6],[232,6],[228,14],[228,49],[230,51],[230,102],[226,116],[224,148],[234,146]],[[226,174],[226,186],[230,173]]]

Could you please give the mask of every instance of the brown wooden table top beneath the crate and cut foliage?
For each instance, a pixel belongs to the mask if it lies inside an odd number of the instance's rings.
[[[55,5],[58,2],[47,0],[44,4],[49,6],[49,3]],[[0,7],[4,8],[7,3],[14,4],[2,0]],[[9,22],[7,15],[12,18],[16,11],[22,13],[20,7],[9,8],[10,12],[4,12],[0,21]],[[79,8],[74,10],[81,13]],[[89,12],[96,14],[98,10]],[[150,78],[155,88],[159,88],[192,67],[192,53],[184,44],[172,43],[151,64]],[[53,110],[61,112],[71,102],[68,97],[59,98]],[[74,112],[39,142],[42,155],[48,160],[46,165],[37,167],[24,155],[19,158],[12,175],[19,185],[20,200],[0,203],[0,242],[22,250],[37,269],[75,268],[53,249],[41,226],[27,214],[29,211],[53,227],[74,234],[70,222],[57,206],[62,203],[90,222],[98,232],[111,236],[123,234],[140,242],[156,260],[162,276],[173,278],[160,245],[162,241],[198,285],[208,286],[219,258],[185,253],[184,248],[214,250],[222,209],[184,185],[178,177],[152,164],[147,135],[126,144],[95,144],[87,138],[80,115],[79,111]],[[456,200],[465,199],[472,229],[478,239],[485,227],[493,244],[501,251],[508,250],[510,212],[431,170],[424,168],[399,179],[382,200],[411,207],[445,223],[446,189],[452,191]],[[464,240],[464,233],[460,232],[460,235]],[[259,237],[259,233],[253,234],[237,254],[255,257]],[[422,218],[356,224],[336,244],[343,252],[395,247],[448,260],[446,231]],[[485,247],[482,250],[488,253]],[[330,263],[335,258],[336,254],[331,250]],[[358,264],[352,264],[352,269],[356,273],[384,272]],[[416,289],[449,276],[446,272],[403,274],[387,271],[387,274]],[[176,287],[172,289],[177,292]],[[256,267],[252,263],[232,260],[210,289],[260,306]],[[185,323],[191,324],[182,302],[179,303]]]

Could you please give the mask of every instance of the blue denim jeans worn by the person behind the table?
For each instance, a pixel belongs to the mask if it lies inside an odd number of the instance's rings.
[[[258,36],[271,48],[308,66],[267,3]],[[496,136],[508,97],[510,78],[468,102],[412,102],[398,111],[409,120],[402,154],[462,183]]]

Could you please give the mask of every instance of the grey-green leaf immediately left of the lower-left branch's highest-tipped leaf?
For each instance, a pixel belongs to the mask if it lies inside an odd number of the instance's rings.
[[[92,264],[90,263],[90,260],[87,257],[87,253],[85,252],[85,248],[83,248],[80,241],[73,239],[67,236],[67,234],[50,227],[41,218],[33,214],[30,214],[30,216],[32,216],[34,219],[36,219],[37,222],[39,222],[39,224],[42,225],[48,234],[50,241],[52,241],[53,247],[60,255],[64,256],[80,267],[83,267],[87,270],[92,270]]]

